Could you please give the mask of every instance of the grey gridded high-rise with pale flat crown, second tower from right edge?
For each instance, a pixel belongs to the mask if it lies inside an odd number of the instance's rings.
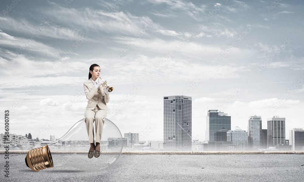
[[[285,144],[285,118],[267,118],[268,147]]]

